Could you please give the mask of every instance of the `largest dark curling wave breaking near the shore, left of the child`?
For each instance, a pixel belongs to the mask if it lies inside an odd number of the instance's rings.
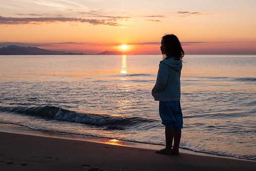
[[[81,113],[62,109],[55,106],[0,107],[0,111],[36,116],[46,119],[83,123],[86,125],[103,127],[105,129],[112,130],[124,130],[128,128],[147,127],[148,123],[157,122],[156,120],[145,119],[140,117],[125,118],[111,115]]]

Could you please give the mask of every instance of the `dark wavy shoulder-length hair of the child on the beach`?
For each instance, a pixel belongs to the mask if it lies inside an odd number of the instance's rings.
[[[176,60],[182,60],[184,51],[177,36],[174,34],[165,34],[162,37],[162,43],[164,45],[163,59],[168,59],[171,56],[175,56]]]

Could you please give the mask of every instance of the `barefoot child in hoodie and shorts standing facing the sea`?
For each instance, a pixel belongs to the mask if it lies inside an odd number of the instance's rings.
[[[180,73],[184,51],[179,39],[165,35],[161,41],[163,60],[160,61],[158,77],[152,96],[159,101],[159,114],[165,125],[166,148],[156,151],[161,154],[179,154],[183,118],[180,107]],[[173,148],[172,142],[174,140]]]

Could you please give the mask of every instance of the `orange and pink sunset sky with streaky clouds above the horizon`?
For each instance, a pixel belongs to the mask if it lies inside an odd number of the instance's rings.
[[[256,54],[255,7],[255,0],[0,0],[0,48],[161,54],[169,33],[185,54]]]

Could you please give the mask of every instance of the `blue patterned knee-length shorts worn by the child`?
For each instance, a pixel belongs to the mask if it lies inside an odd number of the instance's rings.
[[[174,130],[183,128],[180,101],[159,101],[159,114],[163,125],[171,127]]]

